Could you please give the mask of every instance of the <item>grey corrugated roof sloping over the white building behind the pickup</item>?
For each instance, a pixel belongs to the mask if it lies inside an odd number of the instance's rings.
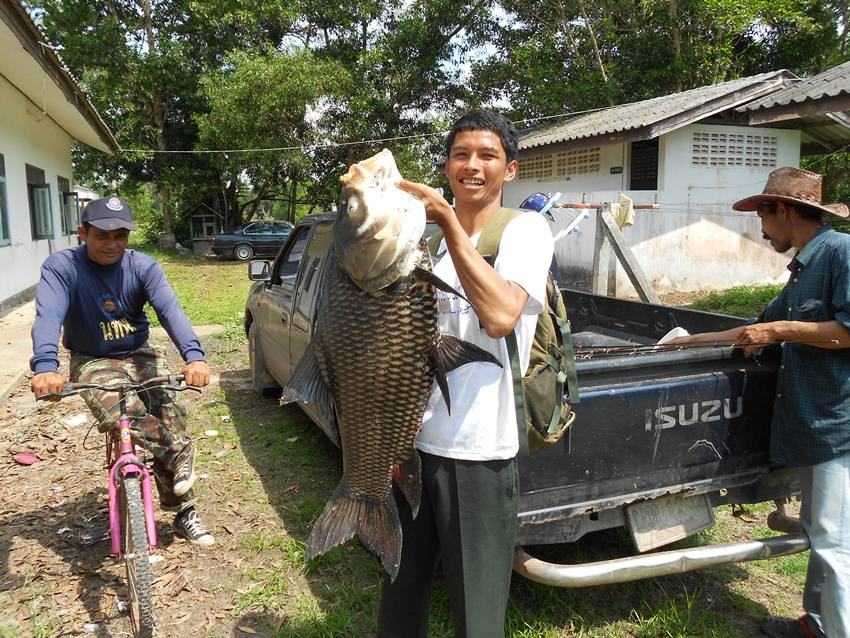
[[[650,128],[646,137],[651,139],[761,97],[765,92],[772,93],[782,88],[783,80],[789,78],[795,76],[784,70],[773,71],[642,102],[612,106],[521,134],[519,148],[528,149],[570,140],[616,135],[644,128]],[[692,115],[691,119],[688,119],[688,114]]]

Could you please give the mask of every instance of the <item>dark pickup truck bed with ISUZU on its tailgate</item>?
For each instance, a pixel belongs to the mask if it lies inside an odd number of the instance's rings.
[[[743,321],[563,290],[574,343],[654,343]],[[558,444],[520,460],[523,543],[572,541],[624,524],[624,508],[665,494],[715,504],[790,493],[768,439],[778,348],[744,358],[731,348],[690,348],[577,363],[581,400]]]

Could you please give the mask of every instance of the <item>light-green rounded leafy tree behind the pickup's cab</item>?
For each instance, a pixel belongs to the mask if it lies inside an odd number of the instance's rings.
[[[308,49],[281,53],[272,48],[234,51],[222,69],[201,78],[209,112],[196,117],[199,145],[206,149],[257,149],[216,156],[223,174],[238,183],[242,174],[252,188],[250,198],[231,199],[231,219],[270,198],[287,202],[295,221],[299,185],[321,179],[307,152],[321,143],[321,130],[311,123],[348,84],[345,69],[318,58]],[[261,149],[283,148],[264,151]]]

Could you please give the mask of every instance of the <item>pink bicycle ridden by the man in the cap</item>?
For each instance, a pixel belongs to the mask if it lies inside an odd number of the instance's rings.
[[[42,394],[36,400],[62,398],[87,390],[117,392],[118,428],[106,432],[106,464],[109,468],[109,534],[112,554],[124,561],[127,569],[127,590],[130,595],[130,622],[137,638],[150,638],[154,630],[151,594],[150,548],[156,546],[153,496],[150,472],[136,455],[130,437],[131,417],[127,414],[127,396],[156,388],[175,392],[199,388],[179,385],[182,374],[153,377],[142,383],[66,383],[62,392]]]

